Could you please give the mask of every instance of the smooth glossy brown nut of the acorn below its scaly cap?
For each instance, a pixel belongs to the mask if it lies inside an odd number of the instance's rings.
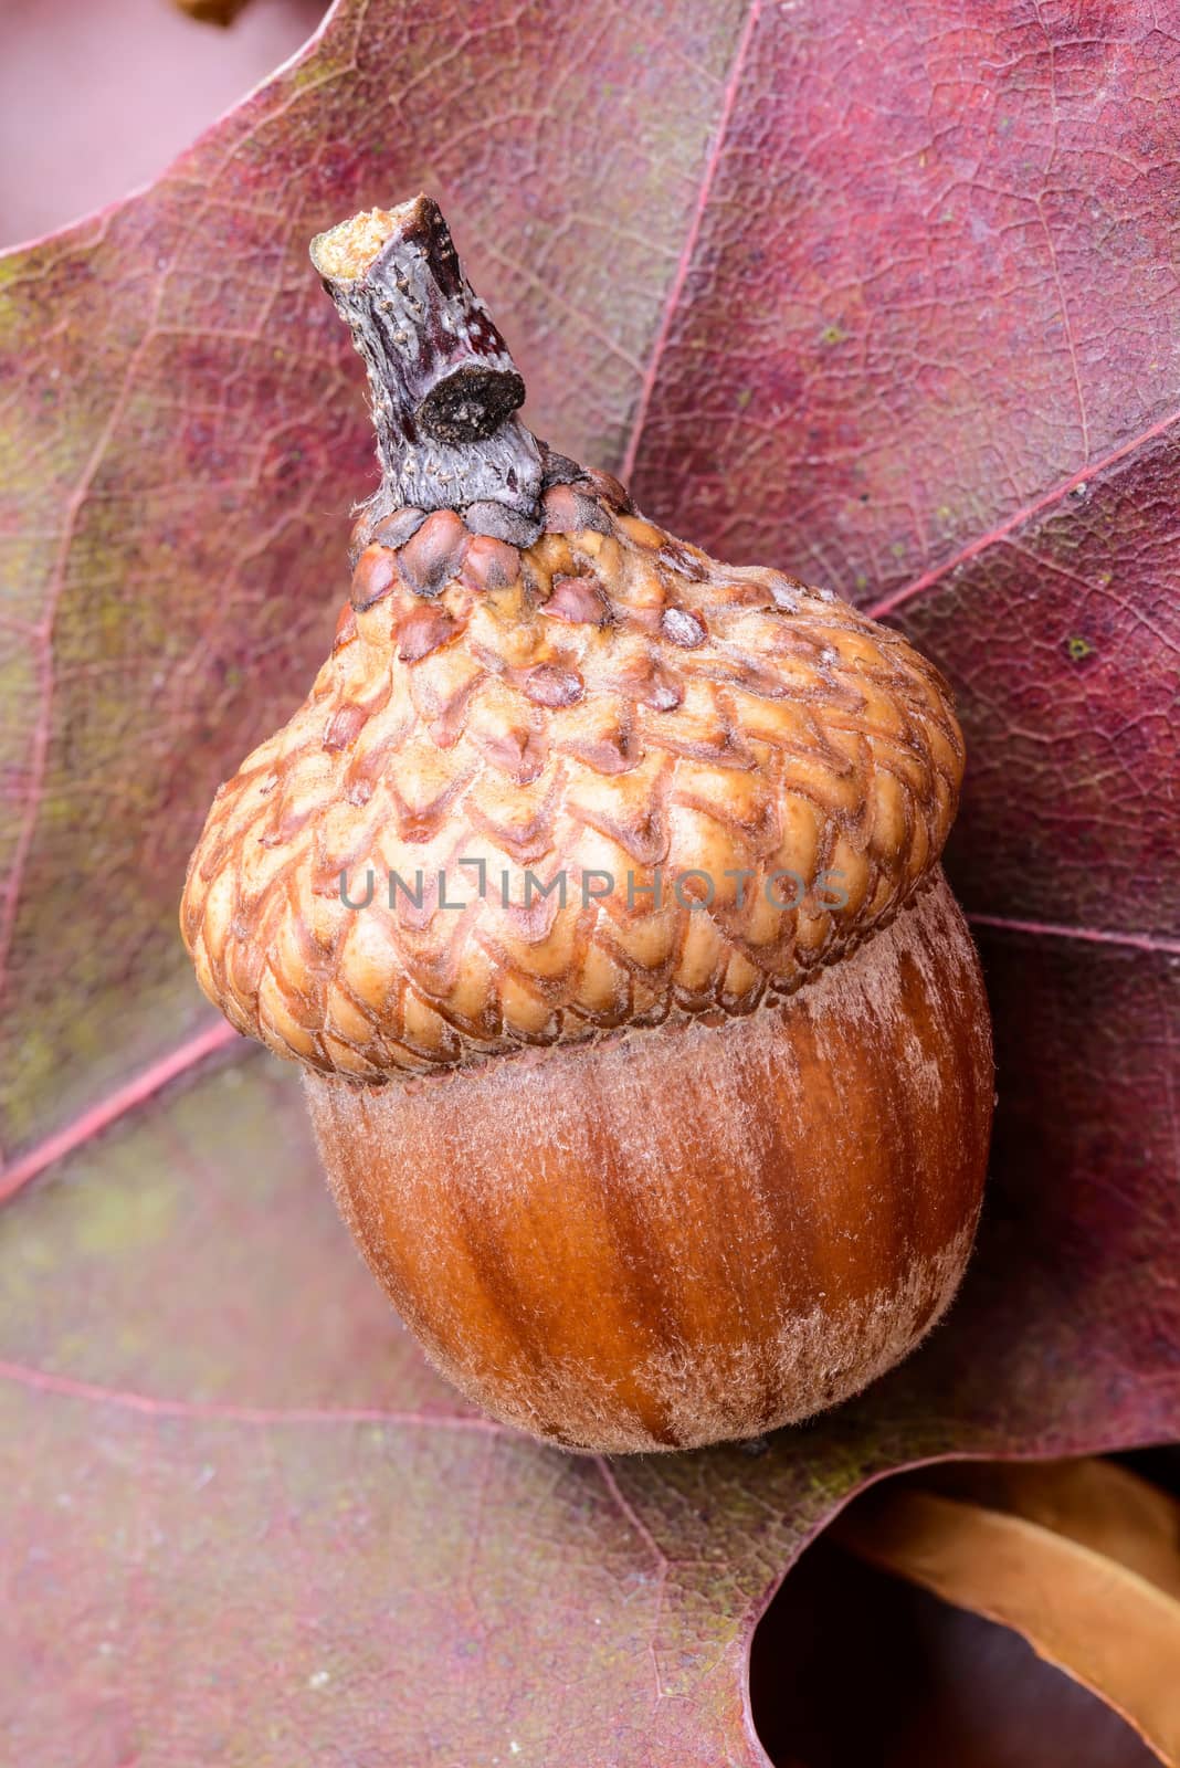
[[[991,1077],[936,872],[747,1020],[306,1091],[341,1213],[443,1374],[627,1452],[761,1436],[913,1349],[968,1259]]]

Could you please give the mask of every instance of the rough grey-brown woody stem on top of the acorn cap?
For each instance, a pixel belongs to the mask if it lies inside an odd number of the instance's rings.
[[[311,262],[369,373],[374,506],[491,504],[507,522],[539,522],[541,449],[516,417],[525,382],[438,203],[353,216],[313,240]]]

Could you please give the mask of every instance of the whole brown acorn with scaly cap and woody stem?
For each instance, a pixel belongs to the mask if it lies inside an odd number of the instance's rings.
[[[193,854],[200,983],[302,1064],[367,1264],[488,1413],[594,1452],[807,1418],[938,1321],[980,1206],[949,688],[530,435],[429,198],[311,255],[382,483]]]

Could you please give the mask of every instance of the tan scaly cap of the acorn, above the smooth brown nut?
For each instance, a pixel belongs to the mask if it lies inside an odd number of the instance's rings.
[[[390,225],[420,233],[426,202],[376,212],[348,301],[382,255],[405,279]],[[433,400],[452,424],[456,373],[397,423]],[[332,656],[217,792],[184,891],[210,1001],[359,1082],[790,995],[936,873],[963,776],[899,633],[673,539],[495,398],[491,469],[488,437],[442,442],[482,451],[459,507],[438,438],[415,431],[417,504],[387,438]]]

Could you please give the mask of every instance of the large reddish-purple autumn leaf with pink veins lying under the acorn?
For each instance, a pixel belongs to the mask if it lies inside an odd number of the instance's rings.
[[[859,1483],[1176,1432],[1161,18],[339,0],[154,187],[4,260],[16,1759],[753,1764],[751,1630]],[[473,1418],[336,1225],[291,1077],[196,1070],[226,1040],[184,861],[327,652],[373,477],[306,246],[422,186],[542,435],[890,612],[959,697],[980,1248],[908,1365],[760,1457]]]

